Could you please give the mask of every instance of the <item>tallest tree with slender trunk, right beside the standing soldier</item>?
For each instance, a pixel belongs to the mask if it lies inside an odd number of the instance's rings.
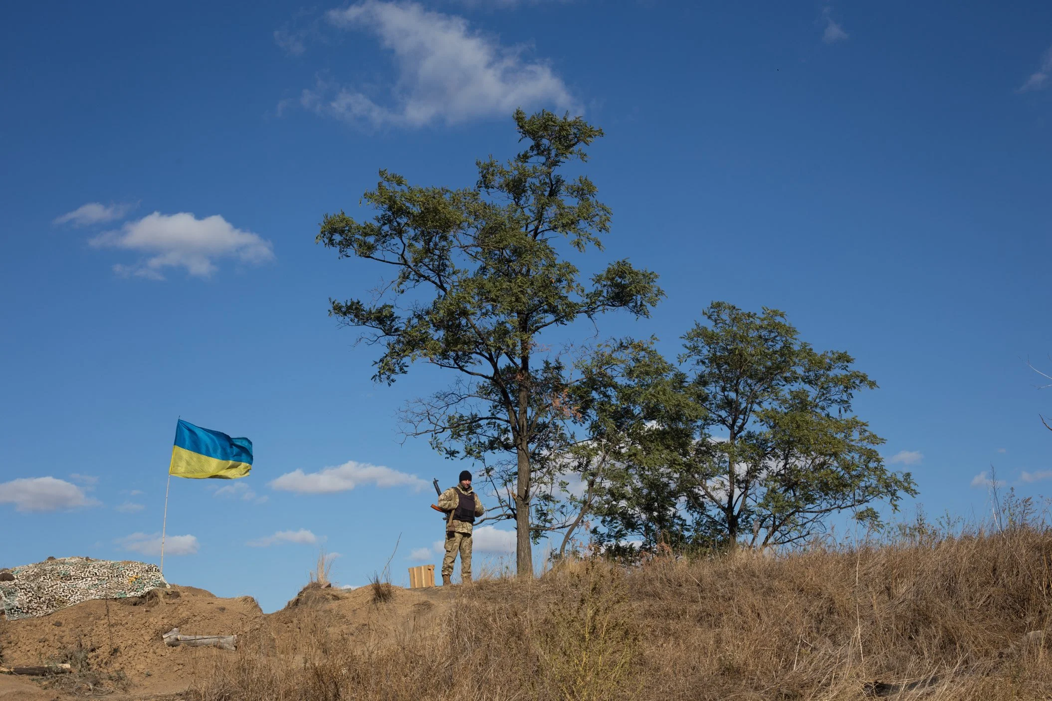
[[[408,433],[486,466],[498,495],[508,495],[490,517],[514,519],[518,572],[531,576],[531,514],[544,517],[533,513],[544,482],[535,477],[557,469],[560,400],[572,384],[563,354],[541,336],[614,309],[646,316],[662,292],[654,273],[627,261],[586,285],[566,257],[565,244],[602,249],[610,230],[592,182],[563,174],[569,162],[587,161],[602,129],[549,111],[517,110],[514,121],[525,150],[504,164],[478,161],[474,187],[412,186],[381,170],[364,194],[372,221],[326,214],[317,241],[341,257],[390,266],[394,276],[377,298],[330,300],[330,313],[383,347],[377,382],[393,383],[414,363],[457,373],[447,390],[406,409]]]

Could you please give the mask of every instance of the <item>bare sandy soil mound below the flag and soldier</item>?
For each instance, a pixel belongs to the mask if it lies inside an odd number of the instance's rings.
[[[306,626],[326,628],[384,644],[429,621],[445,609],[448,592],[392,587],[378,609],[372,592],[304,589],[285,609],[265,615],[251,597],[222,599],[193,586],[173,585],[144,597],[87,601],[49,616],[17,621],[0,618],[4,666],[70,662],[83,672],[52,679],[0,675],[0,701],[65,701],[105,696],[114,701],[180,699],[195,672],[216,655],[206,647],[168,647],[161,635],[238,635],[239,644],[285,654]]]

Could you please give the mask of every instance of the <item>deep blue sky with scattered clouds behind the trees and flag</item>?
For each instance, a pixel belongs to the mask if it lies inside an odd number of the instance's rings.
[[[929,513],[985,513],[991,465],[1052,483],[1049,3],[28,3],[0,32],[0,566],[156,561],[179,416],[256,463],[173,480],[169,580],[269,611],[322,547],[346,584],[400,535],[396,582],[438,562],[428,482],[465,466],[394,412],[441,377],[369,380],[326,310],[380,272],[313,236],[381,167],[472,184],[520,105],[606,130],[581,267],[668,293],[603,335],[674,354],[712,300],[776,307],[881,385],[856,409]]]

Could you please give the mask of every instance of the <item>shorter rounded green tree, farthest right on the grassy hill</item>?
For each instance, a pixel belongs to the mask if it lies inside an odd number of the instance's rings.
[[[889,472],[884,439],[852,413],[875,389],[843,351],[817,352],[785,314],[716,302],[684,336],[684,370],[666,383],[689,398],[646,439],[650,463],[627,461],[603,506],[604,537],[655,533],[706,545],[792,544],[851,511],[896,508],[915,495],[909,473]]]

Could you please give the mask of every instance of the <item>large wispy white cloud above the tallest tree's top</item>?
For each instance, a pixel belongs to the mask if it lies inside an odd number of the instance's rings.
[[[301,104],[319,114],[372,126],[419,127],[508,116],[517,107],[575,109],[566,84],[545,61],[530,61],[523,46],[502,46],[472,30],[467,20],[414,2],[365,0],[332,9],[328,21],[375,34],[394,54],[398,78],[389,105],[359,89],[319,81]]]

